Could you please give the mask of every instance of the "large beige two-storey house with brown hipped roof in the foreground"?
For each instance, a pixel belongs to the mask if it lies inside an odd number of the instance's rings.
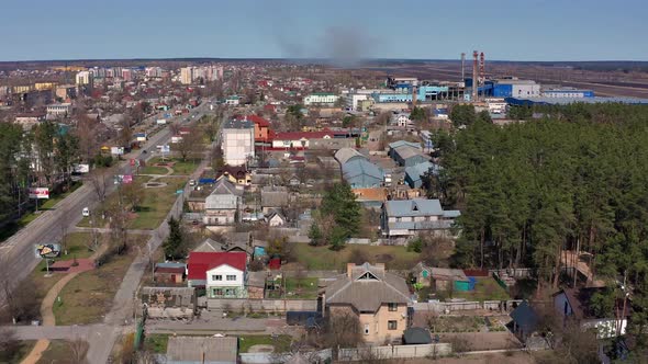
[[[347,264],[346,274],[326,287],[324,302],[326,315],[357,316],[369,343],[400,341],[407,329],[410,289],[384,264]]]

